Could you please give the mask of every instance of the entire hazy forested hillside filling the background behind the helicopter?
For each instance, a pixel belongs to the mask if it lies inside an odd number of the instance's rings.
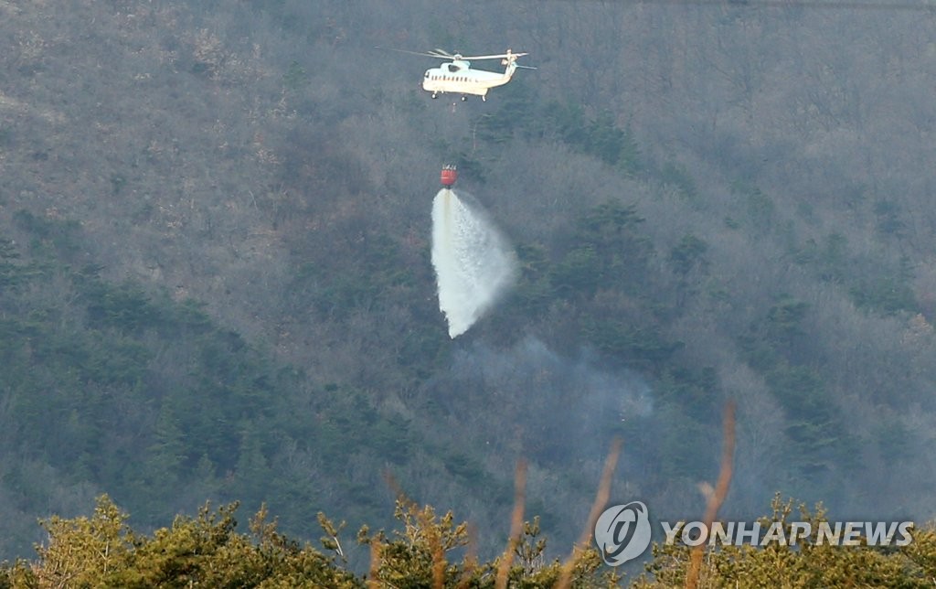
[[[394,485],[490,557],[521,459],[564,555],[615,436],[697,518],[729,400],[724,517],[936,515],[936,13],[501,4],[0,0],[0,559],[102,493],[312,538]],[[537,69],[432,100],[375,47]],[[520,266],[454,340],[446,162]]]

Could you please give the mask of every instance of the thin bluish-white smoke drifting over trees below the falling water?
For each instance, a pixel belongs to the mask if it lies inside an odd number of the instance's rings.
[[[595,480],[601,477],[607,445],[622,435],[630,440],[622,470],[651,468],[645,464],[651,452],[635,442],[636,437],[659,437],[650,385],[589,348],[573,354],[556,352],[534,336],[508,347],[481,340],[460,346],[427,395],[450,416],[439,435],[467,447],[519,450],[544,468],[576,468]],[[478,411],[491,406],[497,407],[494,427],[490,415],[480,418]]]

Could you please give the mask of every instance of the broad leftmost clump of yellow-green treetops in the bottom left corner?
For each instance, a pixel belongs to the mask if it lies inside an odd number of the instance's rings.
[[[73,587],[359,587],[350,572],[308,545],[282,536],[261,508],[251,535],[235,532],[237,504],[196,518],[177,516],[172,526],[142,536],[108,497],[92,518],[44,523],[49,543],[37,563],[9,570],[31,586]]]

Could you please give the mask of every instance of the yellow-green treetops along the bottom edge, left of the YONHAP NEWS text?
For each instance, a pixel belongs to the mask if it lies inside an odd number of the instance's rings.
[[[197,517],[178,515],[170,527],[141,535],[126,525],[128,515],[101,496],[94,515],[71,520],[58,516],[43,523],[48,543],[34,563],[0,566],[0,587],[492,587],[498,561],[478,563],[471,552],[466,523],[452,512],[437,516],[431,507],[400,500],[395,510],[402,530],[392,537],[371,535],[362,528],[358,543],[372,558],[362,578],[345,568],[340,533],[324,514],[318,523],[322,545],[331,555],[285,537],[261,507],[250,521],[250,533],[236,532],[237,503],[199,509]],[[514,548],[519,558],[509,570],[511,586],[552,586],[563,565],[547,564],[546,542],[538,519],[525,523]],[[462,554],[461,560],[459,554]],[[576,587],[609,586],[614,579],[599,574],[601,561],[593,548],[577,551],[569,563]]]

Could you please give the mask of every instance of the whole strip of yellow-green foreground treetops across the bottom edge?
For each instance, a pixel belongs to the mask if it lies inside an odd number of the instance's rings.
[[[42,523],[48,542],[37,548],[35,562],[0,566],[0,587],[493,587],[504,559],[512,587],[553,587],[570,573],[571,586],[621,587],[623,578],[604,567],[591,546],[577,548],[565,563],[547,561],[547,541],[539,518],[522,525],[512,552],[479,562],[472,551],[467,524],[456,524],[452,512],[443,516],[429,506],[399,500],[395,517],[402,529],[388,536],[365,526],[358,544],[371,553],[368,572],[360,576],[346,568],[340,538],[344,524],[318,514],[323,548],[330,555],[302,545],[278,531],[267,508],[251,519],[249,533],[236,532],[236,503],[199,509],[197,517],[176,516],[170,527],[142,535],[129,526],[128,516],[110,498],[101,496],[90,518],[67,520],[53,516]],[[762,530],[779,523],[784,538],[792,523],[809,523],[810,534],[797,542],[769,542],[763,547],[708,548],[696,586],[929,586],[936,574],[936,534],[931,527],[912,530],[906,546],[870,546],[860,538],[855,546],[835,546],[819,539],[828,522],[821,504],[782,501],[777,494],[771,515],[759,520]],[[801,528],[800,528],[801,529]],[[680,535],[677,535],[680,537]],[[630,586],[682,586],[692,548],[680,541],[654,545],[646,573]]]

